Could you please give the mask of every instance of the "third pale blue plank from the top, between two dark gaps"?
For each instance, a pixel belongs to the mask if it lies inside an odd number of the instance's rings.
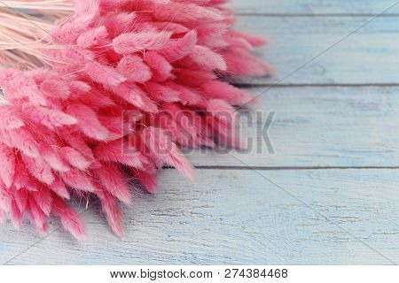
[[[267,88],[266,88],[267,89]],[[399,88],[246,89],[260,96],[241,113],[244,151],[190,151],[199,166],[399,166]],[[270,112],[274,121],[265,128]],[[268,150],[269,138],[274,153]]]

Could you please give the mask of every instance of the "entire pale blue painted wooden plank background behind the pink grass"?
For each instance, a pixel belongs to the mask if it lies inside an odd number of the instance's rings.
[[[7,223],[0,262],[399,263],[399,4],[375,18],[392,4],[233,1],[237,27],[270,39],[256,54],[278,70],[236,81],[262,93],[261,118],[243,127],[258,146],[192,152],[195,181],[166,169],[159,195],[135,189],[121,239],[98,207],[82,214],[88,241],[62,231],[42,239],[27,223],[21,231]],[[274,153],[259,130],[270,112]]]

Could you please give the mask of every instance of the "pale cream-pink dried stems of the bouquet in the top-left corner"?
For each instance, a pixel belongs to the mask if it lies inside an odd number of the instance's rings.
[[[71,14],[74,1],[0,0],[0,62],[2,66],[29,69],[50,63],[46,51],[54,21]]]

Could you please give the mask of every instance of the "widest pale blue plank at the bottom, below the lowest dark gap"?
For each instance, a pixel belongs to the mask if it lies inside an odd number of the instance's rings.
[[[397,170],[198,170],[193,183],[165,170],[160,195],[137,191],[124,209],[123,238],[90,208],[89,241],[57,231],[9,264],[397,263],[398,182]],[[2,227],[0,262],[39,239]]]

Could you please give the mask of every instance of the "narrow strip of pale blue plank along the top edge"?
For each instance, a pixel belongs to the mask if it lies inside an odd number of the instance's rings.
[[[232,0],[231,7],[238,13],[251,14],[377,14],[395,4],[394,0]],[[389,11],[388,15],[399,13],[399,5]]]

